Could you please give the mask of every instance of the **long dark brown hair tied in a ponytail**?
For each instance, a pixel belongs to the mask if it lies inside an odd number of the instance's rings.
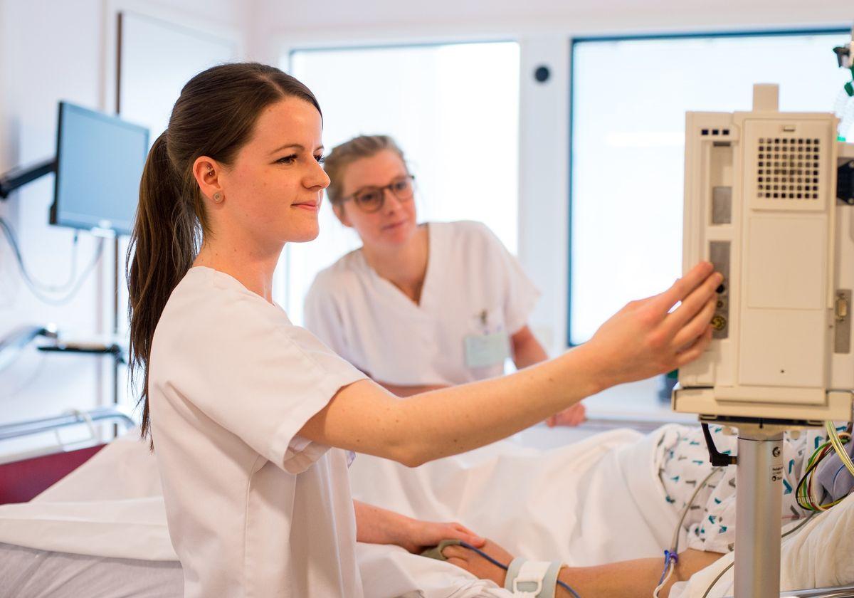
[[[208,68],[184,85],[169,126],[149,151],[127,251],[131,379],[142,373],[142,436],[150,434],[149,360],[157,322],[209,234],[192,166],[207,155],[226,166],[249,141],[266,106],[298,97],[320,112],[312,92],[278,68],[257,62]],[[153,446],[153,443],[152,443]]]

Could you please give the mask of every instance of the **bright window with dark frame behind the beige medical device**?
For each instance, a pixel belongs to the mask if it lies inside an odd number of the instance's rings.
[[[681,273],[685,112],[750,110],[754,83],[781,110],[834,111],[851,33],[576,40],[572,50],[571,344]]]

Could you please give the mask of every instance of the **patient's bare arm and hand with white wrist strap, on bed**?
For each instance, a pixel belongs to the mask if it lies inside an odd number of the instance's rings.
[[[481,548],[495,560],[509,565],[513,559],[512,555],[498,544],[487,541]],[[500,586],[504,586],[505,571],[494,566],[479,554],[468,548],[460,546],[448,546],[442,551],[449,563],[462,567],[475,577],[491,579]],[[694,573],[710,566],[720,559],[723,554],[703,552],[701,550],[687,549],[679,554],[676,571],[670,577],[670,581],[659,593],[666,598],[670,595],[670,587],[678,581],[687,581]],[[560,581],[569,585],[578,592],[582,598],[595,596],[596,598],[649,598],[652,590],[658,585],[658,579],[664,569],[664,558],[661,559],[637,559],[623,560],[606,565],[589,567],[564,567],[560,570]],[[558,598],[569,596],[569,593],[558,586]]]

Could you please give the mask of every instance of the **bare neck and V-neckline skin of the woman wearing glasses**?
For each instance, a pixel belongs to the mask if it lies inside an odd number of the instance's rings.
[[[370,245],[362,248],[368,266],[416,303],[421,298],[430,253],[427,226],[418,226],[407,242],[393,251]]]

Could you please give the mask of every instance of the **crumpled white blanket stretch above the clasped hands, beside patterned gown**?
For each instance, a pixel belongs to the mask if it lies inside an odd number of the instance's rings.
[[[615,430],[547,452],[497,443],[416,469],[359,455],[350,481],[360,501],[459,521],[519,556],[570,566],[659,556],[677,524],[653,465],[661,433]]]

